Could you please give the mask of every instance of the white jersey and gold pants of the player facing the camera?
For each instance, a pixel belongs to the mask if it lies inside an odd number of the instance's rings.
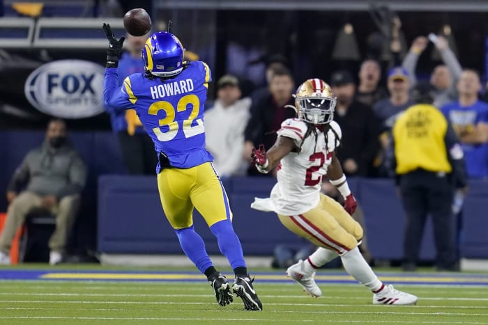
[[[292,232],[342,254],[358,246],[363,228],[342,205],[321,193],[322,177],[342,136],[337,122],[329,125],[326,142],[319,129],[317,139],[313,133],[304,139],[307,123],[303,120],[293,118],[282,123],[278,136],[293,139],[300,152],[290,152],[281,159],[270,200],[257,199],[252,207],[276,212]]]

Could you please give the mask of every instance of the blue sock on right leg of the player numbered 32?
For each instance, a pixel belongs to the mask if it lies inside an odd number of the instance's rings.
[[[210,230],[217,237],[220,251],[227,257],[232,269],[245,267],[243,248],[229,219],[211,225]]]

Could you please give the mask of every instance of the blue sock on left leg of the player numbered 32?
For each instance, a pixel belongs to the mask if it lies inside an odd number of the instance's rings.
[[[208,257],[208,253],[205,249],[204,239],[201,239],[200,235],[195,232],[193,226],[190,228],[175,229],[176,235],[180,240],[181,248],[183,252],[190,258],[190,260],[197,266],[201,273],[205,273],[208,267],[212,267],[212,261]]]

